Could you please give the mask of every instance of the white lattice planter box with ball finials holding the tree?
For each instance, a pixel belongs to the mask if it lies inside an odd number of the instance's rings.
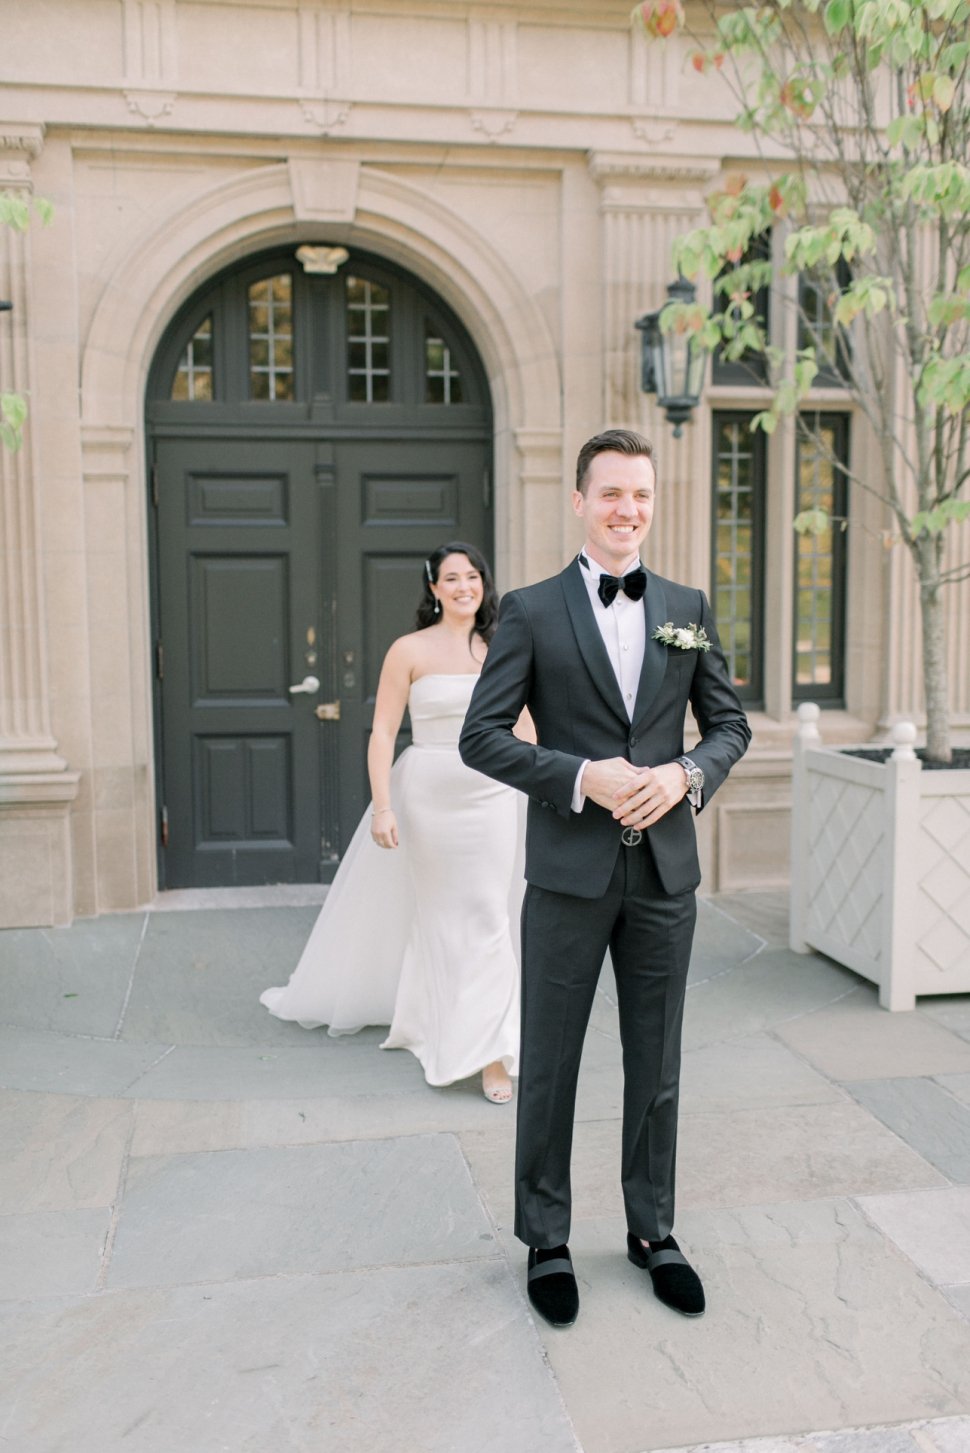
[[[924,772],[916,728],[889,761],[822,747],[799,708],[791,773],[791,947],[879,985],[883,1008],[970,992],[970,770]]]

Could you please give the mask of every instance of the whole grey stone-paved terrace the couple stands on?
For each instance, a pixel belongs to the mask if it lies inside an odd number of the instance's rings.
[[[970,1000],[887,1014],[788,950],[784,895],[701,901],[685,1321],[624,1254],[607,963],[556,1331],[511,1234],[514,1110],[258,1004],[315,911],[215,891],[0,934],[16,1453],[970,1453]]]

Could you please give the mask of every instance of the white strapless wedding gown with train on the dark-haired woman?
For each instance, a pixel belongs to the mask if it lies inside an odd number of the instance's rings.
[[[501,1059],[518,1072],[518,793],[465,766],[457,738],[476,676],[411,686],[412,745],[391,772],[401,846],[370,838],[370,806],[286,988],[277,1019],[350,1035],[391,1024],[431,1085]]]

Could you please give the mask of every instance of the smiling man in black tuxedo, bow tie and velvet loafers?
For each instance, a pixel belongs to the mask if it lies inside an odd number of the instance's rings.
[[[751,732],[703,591],[640,565],[655,488],[653,449],[639,434],[611,429],[582,446],[572,495],[582,552],[502,600],[460,740],[469,767],[529,795],[515,1235],[529,1247],[529,1298],[556,1327],[579,1311],[569,1154],[607,949],[623,1043],[627,1255],[668,1306],[704,1311],[700,1277],[671,1235],[700,881],[694,811]],[[685,757],[688,705],[701,740]],[[523,706],[537,745],[513,735]]]

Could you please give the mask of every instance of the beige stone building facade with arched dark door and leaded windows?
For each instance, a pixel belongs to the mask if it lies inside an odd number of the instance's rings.
[[[786,879],[800,697],[829,740],[918,712],[879,507],[854,490],[799,562],[791,517],[832,481],[793,430],[752,445],[758,382],[709,372],[678,440],[640,392],[635,320],[746,142],[627,17],[0,0],[0,187],[54,205],[0,231],[0,388],[30,402],[0,455],[0,926],[330,876],[421,559],[465,530],[500,588],[559,570],[608,424],[655,439],[646,562],[712,594],[751,706],[700,819],[709,889]],[[813,407],[864,472],[841,392]]]

